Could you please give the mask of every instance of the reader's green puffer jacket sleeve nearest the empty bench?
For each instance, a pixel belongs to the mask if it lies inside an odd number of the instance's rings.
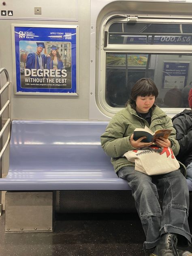
[[[130,135],[124,137],[126,126],[119,116],[114,116],[109,122],[106,131],[101,135],[101,147],[112,158],[123,156],[128,150],[135,149],[130,144]]]

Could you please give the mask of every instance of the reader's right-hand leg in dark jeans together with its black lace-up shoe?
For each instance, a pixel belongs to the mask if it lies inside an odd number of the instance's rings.
[[[188,226],[189,192],[185,177],[179,170],[154,176],[163,193],[161,238],[150,256],[192,256],[177,250],[177,240],[191,240]]]

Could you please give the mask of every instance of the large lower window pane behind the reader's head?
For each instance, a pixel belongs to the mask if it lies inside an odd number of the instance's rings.
[[[110,107],[124,107],[134,83],[151,78],[162,108],[188,107],[192,88],[191,55],[107,53],[105,100]]]

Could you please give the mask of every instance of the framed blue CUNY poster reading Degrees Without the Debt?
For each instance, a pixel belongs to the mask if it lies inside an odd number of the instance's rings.
[[[12,25],[16,94],[78,96],[77,30]]]

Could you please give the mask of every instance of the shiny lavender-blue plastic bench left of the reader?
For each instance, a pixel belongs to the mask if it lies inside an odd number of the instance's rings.
[[[13,120],[0,190],[131,190],[100,146],[107,123]]]

